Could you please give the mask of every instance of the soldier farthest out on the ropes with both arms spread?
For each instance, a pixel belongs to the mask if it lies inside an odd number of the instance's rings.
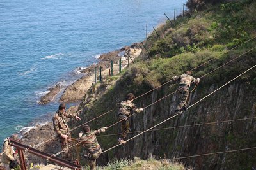
[[[190,76],[191,71],[186,71],[186,74],[182,74],[181,76],[173,76],[173,81],[179,81],[179,104],[175,109],[175,112],[181,114],[182,111],[187,110],[187,99],[189,96],[189,87],[191,83],[199,83],[199,78],[193,78]]]

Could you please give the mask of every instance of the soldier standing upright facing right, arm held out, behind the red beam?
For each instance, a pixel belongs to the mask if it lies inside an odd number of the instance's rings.
[[[68,114],[65,112],[66,106],[65,104],[60,104],[59,109],[56,111],[54,117],[52,118],[54,131],[58,135],[58,138],[61,143],[62,150],[68,148],[68,143],[71,141],[67,138],[70,138],[71,135],[68,132],[68,125],[67,125],[67,118],[75,117],[76,120],[81,120],[77,115]],[[63,159],[70,159],[70,156],[68,155],[68,150],[65,151],[65,153],[62,154]]]

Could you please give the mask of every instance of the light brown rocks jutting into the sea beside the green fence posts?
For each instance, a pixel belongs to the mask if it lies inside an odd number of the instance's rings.
[[[141,50],[141,45],[140,43],[134,43],[131,46],[124,46],[122,49],[100,55],[99,62],[97,64],[92,64],[86,67],[86,69],[81,70],[81,73],[83,73],[84,76],[67,87],[63,87],[59,84],[55,85],[54,87],[50,87],[48,89],[49,92],[42,96],[38,103],[47,104],[53,101],[55,97],[60,94],[60,92],[63,92],[60,99],[58,99],[60,102],[69,103],[81,101],[84,94],[86,94],[87,90],[92,86],[92,83],[95,83],[95,68],[97,69],[97,76],[99,76],[99,67],[102,67],[102,77],[103,79],[106,78],[106,76],[109,74],[108,70],[111,67],[111,60],[113,61],[114,67],[118,65],[120,58],[122,60],[122,68],[125,67],[125,64],[127,65],[127,60],[125,59],[124,55],[128,50],[130,56],[135,58],[136,55],[138,55],[138,50]],[[118,67],[114,69],[114,74],[118,72],[117,70]]]

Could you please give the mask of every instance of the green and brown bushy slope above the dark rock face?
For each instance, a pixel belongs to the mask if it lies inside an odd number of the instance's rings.
[[[207,10],[193,13],[191,17],[180,18],[176,21],[174,28],[171,28],[168,23],[162,25],[158,31],[162,36],[164,35],[164,38],[157,39],[156,34],[153,33],[145,43],[150,50],[151,59],[145,60],[145,52],[141,55],[141,59],[136,60],[136,64],[122,74],[111,90],[99,97],[97,101],[87,104],[88,112],[84,122],[115,108],[115,103],[122,101],[128,92],[138,96],[170,80],[172,76],[184,73],[187,69],[192,69],[218,56],[211,63],[194,71],[195,77],[203,76],[254,47],[256,40],[221,55],[256,35],[256,17],[253,13],[256,13],[256,2],[253,1],[217,4],[210,6]],[[255,52],[256,50],[246,53],[227,66],[205,76],[199,90],[203,92],[204,88],[207,89],[212,83],[223,84],[253,66],[256,63]],[[255,87],[255,70],[242,76],[239,81],[248,81],[252,87]],[[142,100],[142,98],[138,99],[136,103]],[[115,111],[97,122],[92,122],[91,125],[95,127],[93,129],[108,126],[116,122],[113,117],[115,117]],[[112,128],[109,131],[115,133],[118,129]],[[99,143],[103,148],[109,148],[116,145],[116,137],[99,138]],[[108,153],[110,158],[115,157],[113,152]]]

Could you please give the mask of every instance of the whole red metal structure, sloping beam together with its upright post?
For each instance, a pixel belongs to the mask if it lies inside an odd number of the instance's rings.
[[[10,145],[17,148],[18,153],[19,153],[19,160],[20,160],[20,168],[22,170],[26,170],[26,162],[24,159],[24,151],[31,153],[33,155],[36,155],[38,157],[41,157],[43,159],[47,159],[51,162],[55,162],[56,164],[60,165],[60,166],[65,166],[68,167],[70,169],[74,169],[74,170],[81,170],[82,167],[79,166],[79,162],[78,160],[76,160],[76,164],[72,163],[72,162],[68,162],[67,160],[64,159],[60,159],[58,157],[55,157],[54,155],[50,155],[49,153],[45,153],[42,152],[40,150],[36,150],[35,148],[31,148],[29,146],[23,145],[22,143],[15,141],[13,139],[10,139]]]

